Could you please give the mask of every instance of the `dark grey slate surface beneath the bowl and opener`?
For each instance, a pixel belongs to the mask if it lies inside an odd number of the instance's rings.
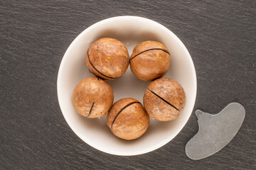
[[[255,169],[256,1],[1,1],[0,169]],[[60,61],[75,37],[112,16],[143,16],[182,40],[198,79],[196,109],[245,106],[242,128],[224,149],[193,161],[186,142],[196,115],[167,145],[118,157],[82,142],[58,106]]]

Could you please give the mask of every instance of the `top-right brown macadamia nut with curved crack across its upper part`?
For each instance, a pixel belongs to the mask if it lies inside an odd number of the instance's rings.
[[[157,41],[139,43],[130,57],[133,74],[141,80],[151,81],[163,77],[171,63],[167,48]]]

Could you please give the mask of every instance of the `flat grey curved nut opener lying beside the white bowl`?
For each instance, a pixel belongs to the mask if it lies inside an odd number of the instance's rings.
[[[245,119],[245,108],[230,103],[218,114],[197,110],[198,133],[188,141],[185,151],[189,158],[198,160],[223,149],[233,140]]]

